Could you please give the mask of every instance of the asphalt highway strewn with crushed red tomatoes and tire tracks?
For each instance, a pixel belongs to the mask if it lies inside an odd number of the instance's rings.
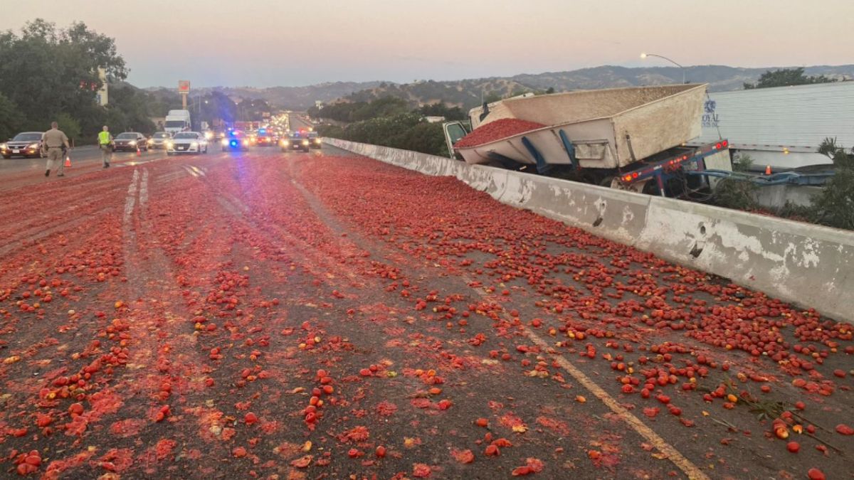
[[[0,170],[6,476],[851,478],[851,325],[340,150],[97,155]]]

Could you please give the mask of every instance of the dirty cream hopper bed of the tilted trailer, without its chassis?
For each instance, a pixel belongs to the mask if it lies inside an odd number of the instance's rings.
[[[546,126],[455,150],[467,163],[620,169],[698,137],[705,89],[662,85],[509,99],[480,126],[508,118]]]

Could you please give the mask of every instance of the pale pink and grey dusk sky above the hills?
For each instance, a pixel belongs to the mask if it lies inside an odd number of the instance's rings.
[[[854,62],[852,0],[0,0],[115,38],[137,86],[465,79],[600,65]]]

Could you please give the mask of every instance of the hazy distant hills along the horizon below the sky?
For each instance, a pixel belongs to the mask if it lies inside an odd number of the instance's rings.
[[[710,91],[740,90],[746,82],[755,82],[768,70],[792,67],[742,68],[725,65],[698,65],[685,68],[685,78],[692,83],[708,83]],[[854,79],[854,65],[805,67],[807,75],[825,75],[833,79]],[[229,97],[262,98],[279,108],[305,110],[314,102],[357,102],[381,97],[399,97],[413,106],[445,102],[450,106],[471,108],[483,97],[505,97],[524,91],[592,90],[640,85],[678,84],[682,81],[679,67],[592,67],[566,72],[520,73],[512,77],[490,77],[462,80],[423,80],[407,84],[394,82],[327,82],[299,87],[205,87],[194,93],[222,91]],[[157,88],[147,89],[156,91]]]

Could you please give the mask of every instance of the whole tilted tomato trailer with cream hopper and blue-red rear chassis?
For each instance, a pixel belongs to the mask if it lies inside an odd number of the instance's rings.
[[[726,140],[685,146],[699,137],[705,89],[660,85],[511,98],[472,109],[473,132],[506,119],[543,126],[471,144],[459,142],[468,134],[465,126],[451,122],[446,138],[467,163],[534,166],[541,174],[570,173],[588,183],[681,196],[708,187],[685,171],[731,170]]]

